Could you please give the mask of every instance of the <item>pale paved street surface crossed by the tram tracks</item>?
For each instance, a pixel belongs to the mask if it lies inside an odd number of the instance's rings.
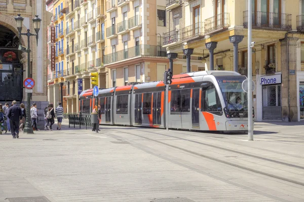
[[[304,201],[301,123],[255,123],[255,141],[246,134],[100,129],[0,135],[0,201]]]

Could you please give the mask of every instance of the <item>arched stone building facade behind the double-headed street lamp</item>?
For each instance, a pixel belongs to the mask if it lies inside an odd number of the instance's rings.
[[[5,104],[16,100],[26,104],[27,93],[23,88],[23,80],[27,77],[27,53],[18,50],[19,45],[28,47],[27,36],[19,38],[14,17],[21,14],[24,18],[22,33],[30,29],[35,33],[32,19],[39,15],[42,19],[39,39],[30,37],[30,74],[35,80],[31,94],[32,102],[37,108],[44,109],[47,102],[47,24],[50,16],[45,9],[44,0],[0,1],[0,102]],[[43,111],[43,110],[42,110]],[[39,113],[43,120],[43,114]]]

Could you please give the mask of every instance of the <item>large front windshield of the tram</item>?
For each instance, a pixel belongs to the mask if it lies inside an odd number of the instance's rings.
[[[246,77],[217,78],[226,107],[229,111],[247,111],[247,93],[242,89]]]

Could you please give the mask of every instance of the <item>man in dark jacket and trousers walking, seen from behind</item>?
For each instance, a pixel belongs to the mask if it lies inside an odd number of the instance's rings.
[[[17,106],[17,102],[13,101],[13,106],[10,107],[9,118],[13,138],[19,138],[19,122],[22,119],[21,108]]]

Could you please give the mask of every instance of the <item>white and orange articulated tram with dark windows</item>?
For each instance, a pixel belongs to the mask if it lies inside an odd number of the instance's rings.
[[[166,128],[168,118],[171,129],[247,131],[245,79],[234,71],[198,71],[174,75],[168,92],[163,81],[100,89],[100,124]],[[80,113],[90,114],[95,99],[92,89],[83,91]]]

